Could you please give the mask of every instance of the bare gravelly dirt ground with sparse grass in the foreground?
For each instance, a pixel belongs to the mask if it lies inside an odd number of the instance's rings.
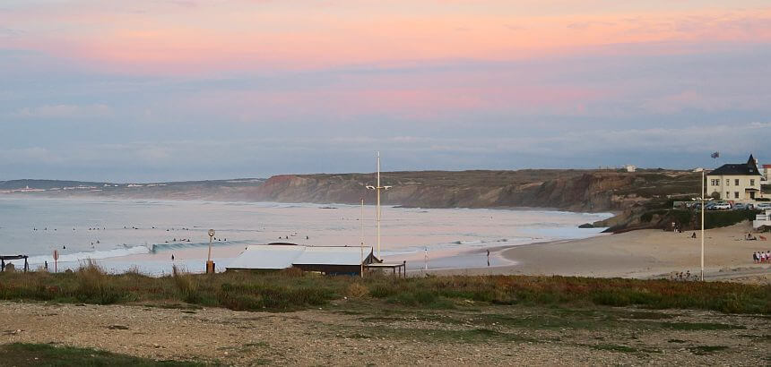
[[[227,365],[768,365],[771,318],[470,304],[233,312],[0,303],[0,344],[51,343]]]

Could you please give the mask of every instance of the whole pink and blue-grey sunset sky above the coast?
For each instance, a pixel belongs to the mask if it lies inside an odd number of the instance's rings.
[[[3,0],[0,130],[0,180],[771,163],[771,3]]]

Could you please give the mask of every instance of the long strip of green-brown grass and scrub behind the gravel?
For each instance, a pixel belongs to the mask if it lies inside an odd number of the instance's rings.
[[[296,269],[266,274],[228,272],[215,275],[192,275],[175,269],[167,277],[148,277],[136,272],[105,274],[93,263],[73,273],[0,273],[0,299],[4,300],[288,312],[323,307],[343,297],[422,310],[521,304],[771,313],[771,286],[665,279],[529,276],[361,279],[325,277]],[[641,320],[665,317],[645,312],[627,315],[628,319]]]

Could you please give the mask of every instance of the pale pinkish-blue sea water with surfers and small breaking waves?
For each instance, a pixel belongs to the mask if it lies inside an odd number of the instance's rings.
[[[553,210],[383,208],[379,255],[408,268],[486,266],[485,249],[585,238],[602,229],[577,226],[609,213]],[[362,228],[363,227],[363,228]],[[224,269],[248,244],[299,243],[373,247],[375,208],[342,204],[0,198],[0,255],[29,255],[37,269],[53,252],[59,269],[97,260],[110,271],[163,274],[176,264],[204,269],[212,228],[212,257]],[[171,261],[171,256],[176,255]],[[13,261],[17,268],[22,262]],[[493,257],[491,265],[505,265]]]

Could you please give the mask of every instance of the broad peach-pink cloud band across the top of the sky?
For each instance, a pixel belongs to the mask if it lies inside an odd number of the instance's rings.
[[[439,4],[409,13],[403,3],[379,4],[382,12],[366,13],[361,5],[349,9],[346,2],[292,8],[180,1],[198,5],[145,4],[147,13],[128,8],[116,13],[92,5],[78,12],[62,7],[0,14],[5,27],[31,29],[22,39],[0,38],[0,47],[35,49],[110,71],[167,74],[307,70],[401,60],[512,60],[611,44],[771,41],[768,8],[549,15],[506,13],[502,2],[492,2],[486,11],[481,4],[463,1],[455,13]]]

